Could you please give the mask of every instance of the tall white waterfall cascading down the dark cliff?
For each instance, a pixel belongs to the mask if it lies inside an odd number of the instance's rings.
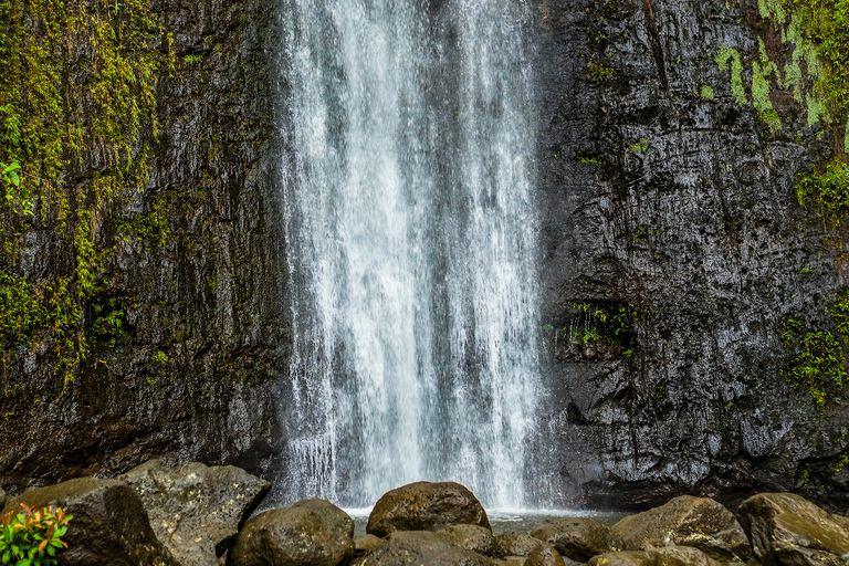
[[[526,504],[541,397],[524,0],[286,0],[284,499]]]

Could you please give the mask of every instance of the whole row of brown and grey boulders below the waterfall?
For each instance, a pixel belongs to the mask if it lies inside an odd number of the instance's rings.
[[[82,478],[18,496],[2,515],[59,505],[73,516],[69,566],[845,566],[849,517],[789,493],[735,510],[682,495],[606,526],[543,521],[494,535],[486,511],[458,483],[418,482],[384,494],[354,536],[332,502],[306,500],[251,516],[271,485],[234,467],[147,462],[116,479]]]

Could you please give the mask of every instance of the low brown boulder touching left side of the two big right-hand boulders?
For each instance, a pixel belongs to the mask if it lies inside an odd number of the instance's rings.
[[[531,535],[549,544],[563,556],[578,562],[622,549],[621,539],[591,518],[549,518]]]

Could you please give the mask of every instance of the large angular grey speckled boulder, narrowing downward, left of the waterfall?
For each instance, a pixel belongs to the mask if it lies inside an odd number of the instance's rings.
[[[159,541],[184,566],[217,566],[271,484],[244,470],[151,460],[118,478],[147,510]]]

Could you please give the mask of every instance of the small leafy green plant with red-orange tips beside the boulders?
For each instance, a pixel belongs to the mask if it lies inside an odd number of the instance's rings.
[[[21,507],[23,512],[9,513],[0,522],[0,564],[55,566],[56,551],[67,548],[62,537],[73,516],[61,509]]]

